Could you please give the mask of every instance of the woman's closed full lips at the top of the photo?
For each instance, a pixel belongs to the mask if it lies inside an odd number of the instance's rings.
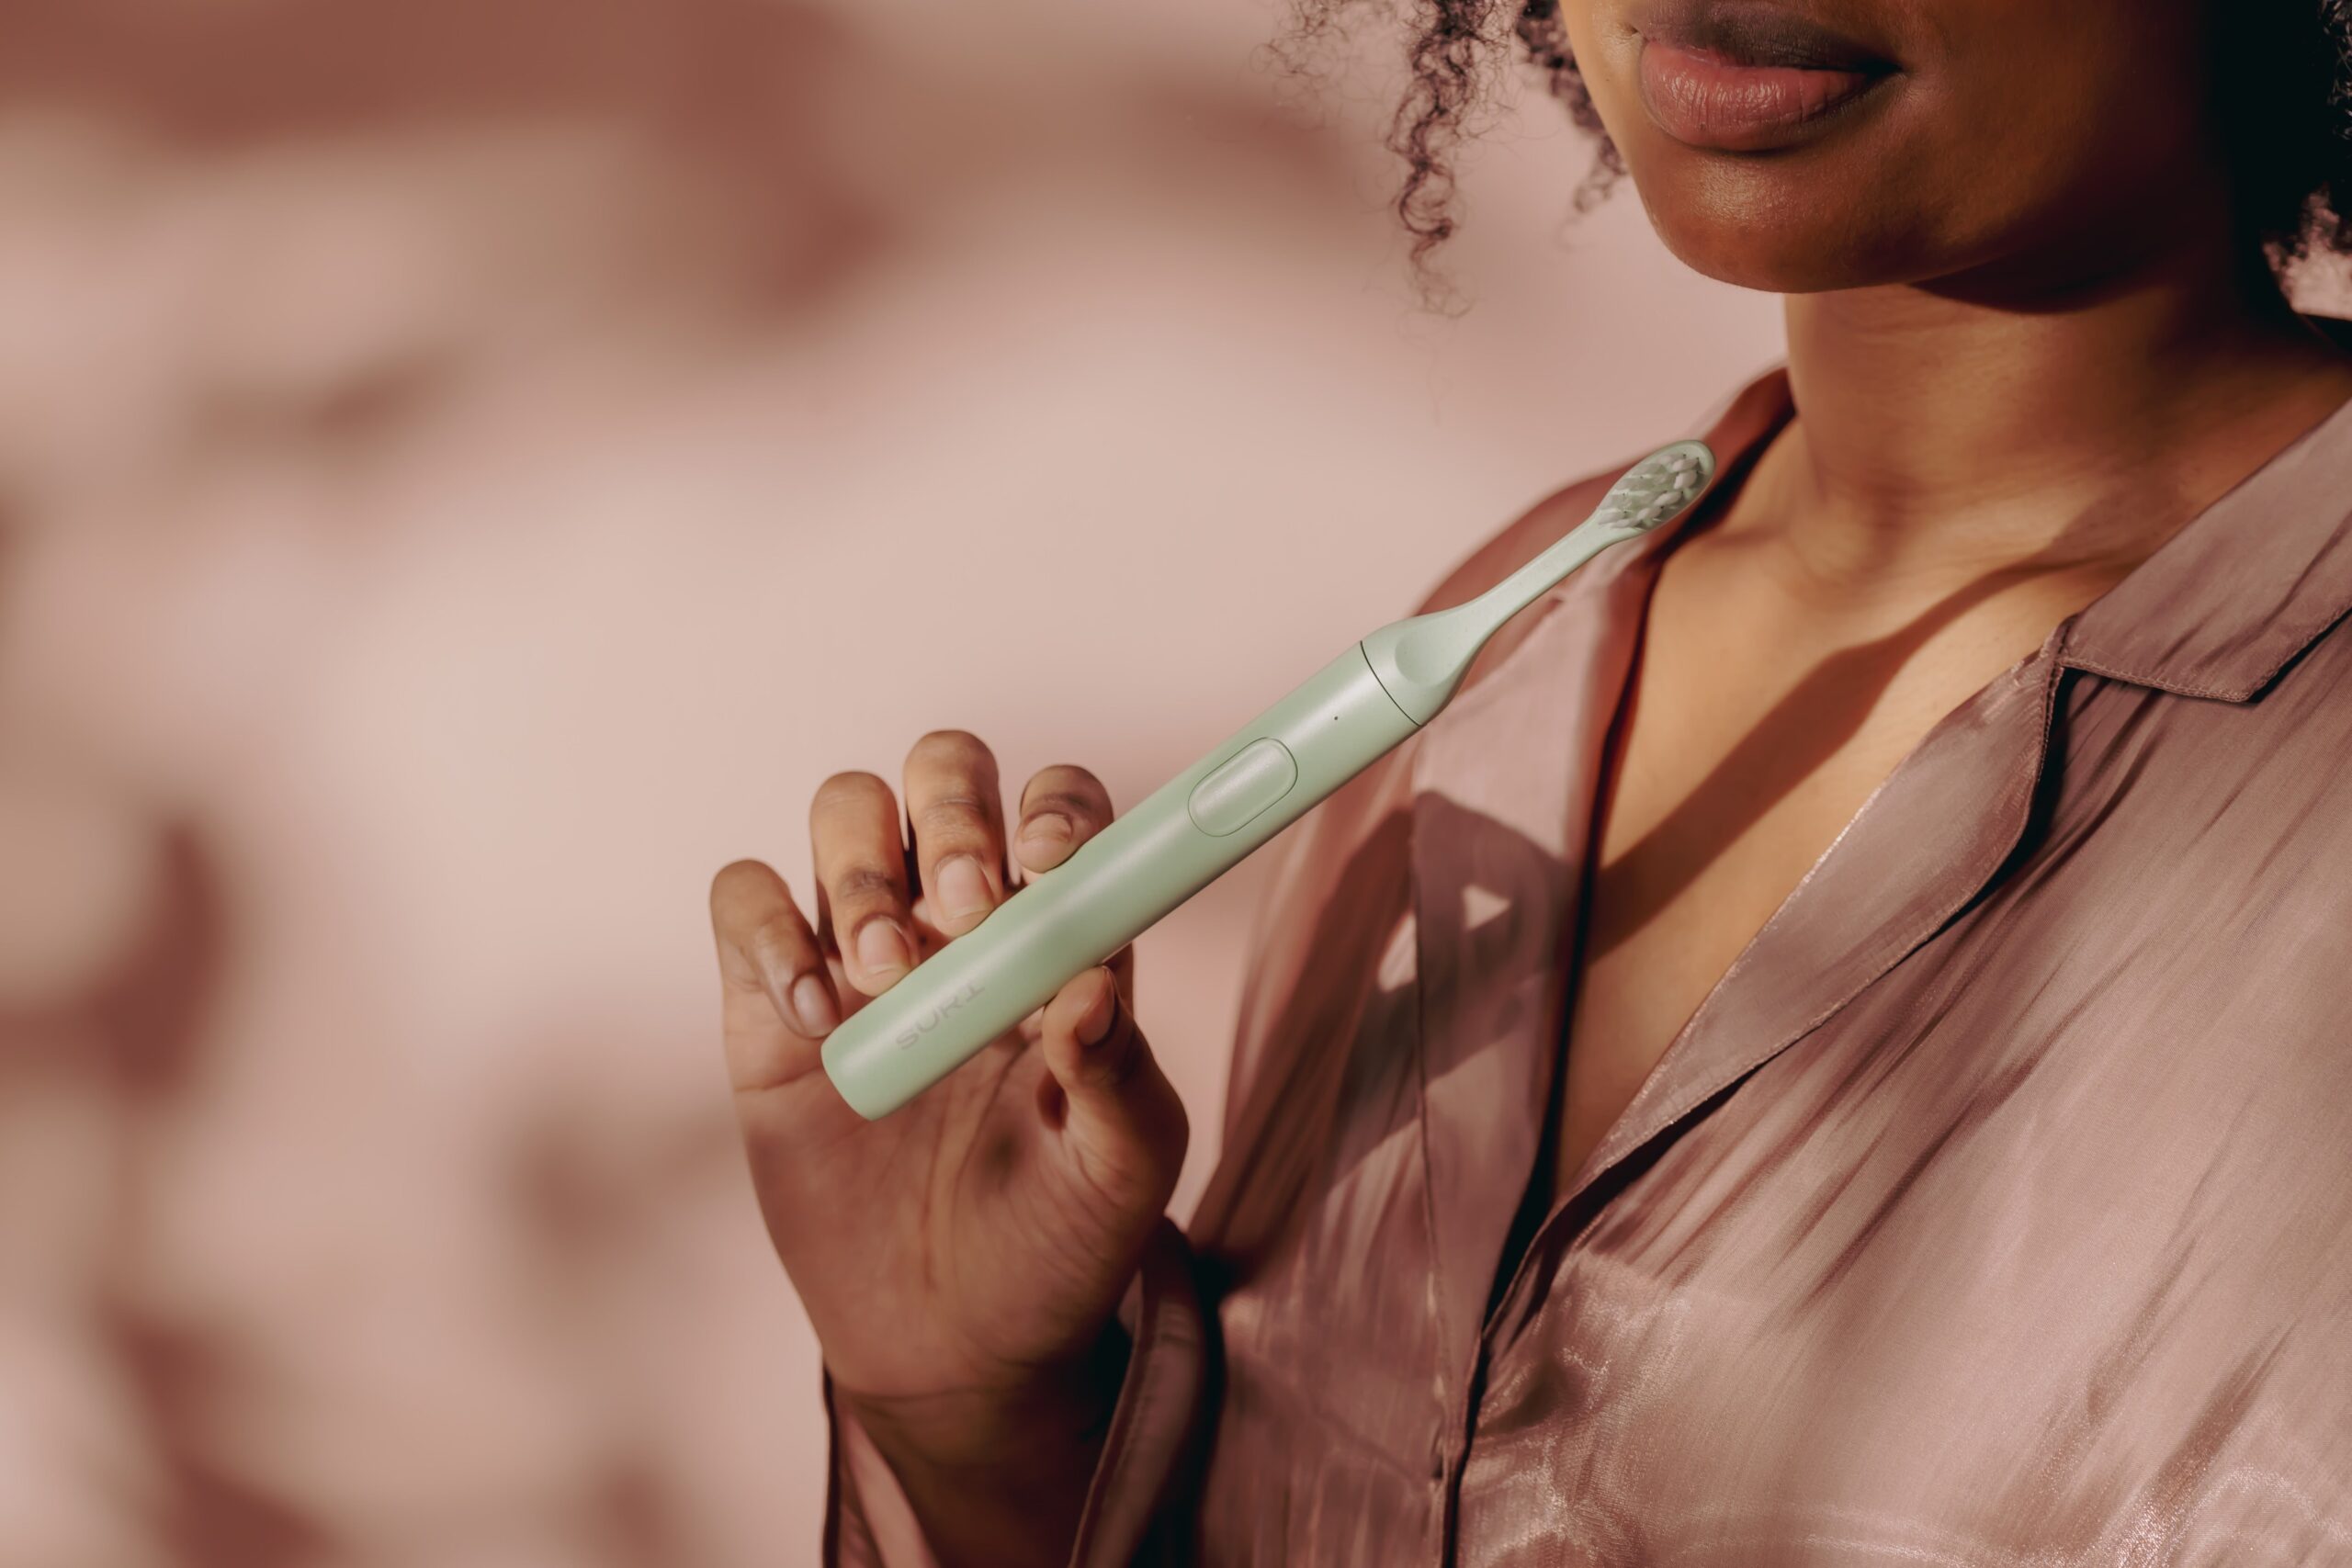
[[[1766,0],[1679,0],[1642,16],[1639,82],[1675,141],[1724,153],[1795,146],[1879,99],[1900,66]]]

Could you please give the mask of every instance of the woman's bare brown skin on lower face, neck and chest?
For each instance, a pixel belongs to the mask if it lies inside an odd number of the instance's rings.
[[[2199,5],[1825,2],[1804,14],[1903,78],[1773,153],[1651,122],[1637,14],[1562,19],[1665,244],[1785,296],[1799,411],[1658,576],[1555,1194],[1919,738],[2352,397],[2352,362],[2230,237]]]

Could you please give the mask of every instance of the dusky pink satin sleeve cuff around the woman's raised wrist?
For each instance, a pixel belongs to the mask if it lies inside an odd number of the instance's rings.
[[[1192,1248],[1162,1215],[1120,1302],[1127,1371],[1087,1483],[1070,1568],[1174,1568],[1188,1559],[1209,1415],[1209,1316]],[[826,1568],[938,1568],[882,1450],[823,1373]]]

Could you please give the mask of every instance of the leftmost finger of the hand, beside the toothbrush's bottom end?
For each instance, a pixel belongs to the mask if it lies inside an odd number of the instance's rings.
[[[818,1041],[840,1023],[833,976],[790,889],[760,860],[710,879],[710,931],[720,950],[722,1032],[736,1088],[767,1088],[818,1065]]]

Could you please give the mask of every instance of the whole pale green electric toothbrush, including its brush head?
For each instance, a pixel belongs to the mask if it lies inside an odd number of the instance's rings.
[[[1682,515],[1712,477],[1705,442],[1661,447],[1486,592],[1348,644],[835,1027],[823,1046],[833,1086],[877,1119],[948,1077],[1435,719],[1505,621],[1609,545]]]

